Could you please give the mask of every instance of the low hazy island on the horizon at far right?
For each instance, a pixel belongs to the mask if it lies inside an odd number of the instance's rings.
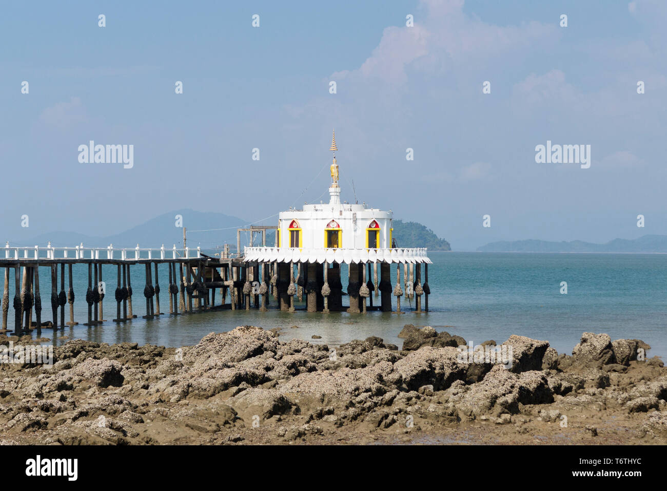
[[[478,247],[482,253],[667,253],[667,235],[644,235],[640,238],[614,238],[605,244],[583,240],[550,242],[548,240],[514,240],[491,242]]]

